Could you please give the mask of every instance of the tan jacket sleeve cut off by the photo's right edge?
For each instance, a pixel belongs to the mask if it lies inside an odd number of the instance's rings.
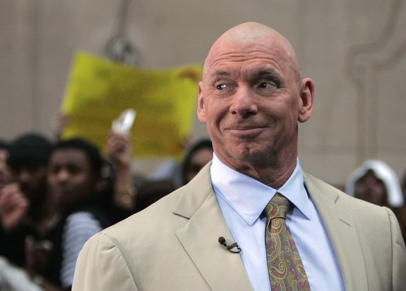
[[[402,291],[406,286],[406,247],[399,223],[392,210],[386,209],[389,215],[389,222],[392,235],[392,291]]]

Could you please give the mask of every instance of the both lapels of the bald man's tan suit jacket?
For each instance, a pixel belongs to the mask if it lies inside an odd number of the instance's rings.
[[[252,290],[239,254],[230,253],[231,234],[221,214],[210,181],[210,163],[183,188],[174,213],[188,218],[176,236],[212,290]],[[341,208],[339,192],[304,173],[304,183],[323,220],[343,275],[346,290],[366,290],[367,277],[355,221]]]

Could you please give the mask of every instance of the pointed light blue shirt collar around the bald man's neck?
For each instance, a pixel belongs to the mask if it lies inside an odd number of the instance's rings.
[[[216,194],[249,225],[258,219],[266,204],[277,192],[276,189],[229,168],[220,161],[215,153],[210,167],[210,176]],[[278,192],[289,199],[304,216],[311,219],[309,197],[304,188],[303,174],[298,159],[292,175]]]

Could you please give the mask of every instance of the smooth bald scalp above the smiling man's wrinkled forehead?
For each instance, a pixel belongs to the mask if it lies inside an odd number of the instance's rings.
[[[295,79],[301,79],[300,66],[290,42],[275,29],[257,22],[234,26],[217,39],[206,58],[203,78],[210,71],[213,62],[223,54],[244,54],[254,46],[263,47],[269,52],[276,51],[290,67]]]

